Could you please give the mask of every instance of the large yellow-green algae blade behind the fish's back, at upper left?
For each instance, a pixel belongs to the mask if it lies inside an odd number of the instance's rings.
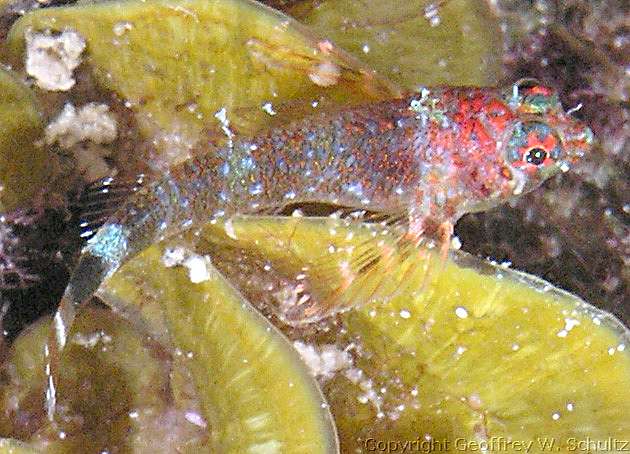
[[[192,146],[202,130],[224,138],[226,119],[243,132],[271,117],[295,118],[295,109],[286,116],[274,110],[291,100],[310,107],[320,98],[345,103],[399,93],[293,19],[246,0],[120,1],[32,11],[10,31],[11,58],[23,62],[28,30],[67,29],[86,39],[85,61],[99,85],[133,109],[145,135],[170,144]]]

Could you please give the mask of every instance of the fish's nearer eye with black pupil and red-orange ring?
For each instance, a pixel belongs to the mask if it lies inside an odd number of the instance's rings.
[[[546,123],[519,123],[508,142],[508,160],[514,167],[525,170],[548,167],[560,157],[561,141]]]

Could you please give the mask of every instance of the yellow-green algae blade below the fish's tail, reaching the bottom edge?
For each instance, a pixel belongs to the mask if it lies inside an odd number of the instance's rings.
[[[211,431],[211,452],[335,453],[328,406],[286,339],[211,265],[196,284],[166,268],[154,246],[127,264],[102,295],[157,299],[189,367]]]

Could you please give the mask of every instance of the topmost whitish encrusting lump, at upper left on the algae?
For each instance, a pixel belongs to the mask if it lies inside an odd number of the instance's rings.
[[[25,33],[26,72],[38,87],[50,91],[70,90],[76,81],[73,71],[81,64],[85,39],[74,30],[59,35]]]

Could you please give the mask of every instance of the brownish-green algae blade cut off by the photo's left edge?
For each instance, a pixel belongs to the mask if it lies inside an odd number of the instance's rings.
[[[0,69],[0,212],[28,203],[43,187],[46,157],[35,144],[42,131],[34,95]]]

